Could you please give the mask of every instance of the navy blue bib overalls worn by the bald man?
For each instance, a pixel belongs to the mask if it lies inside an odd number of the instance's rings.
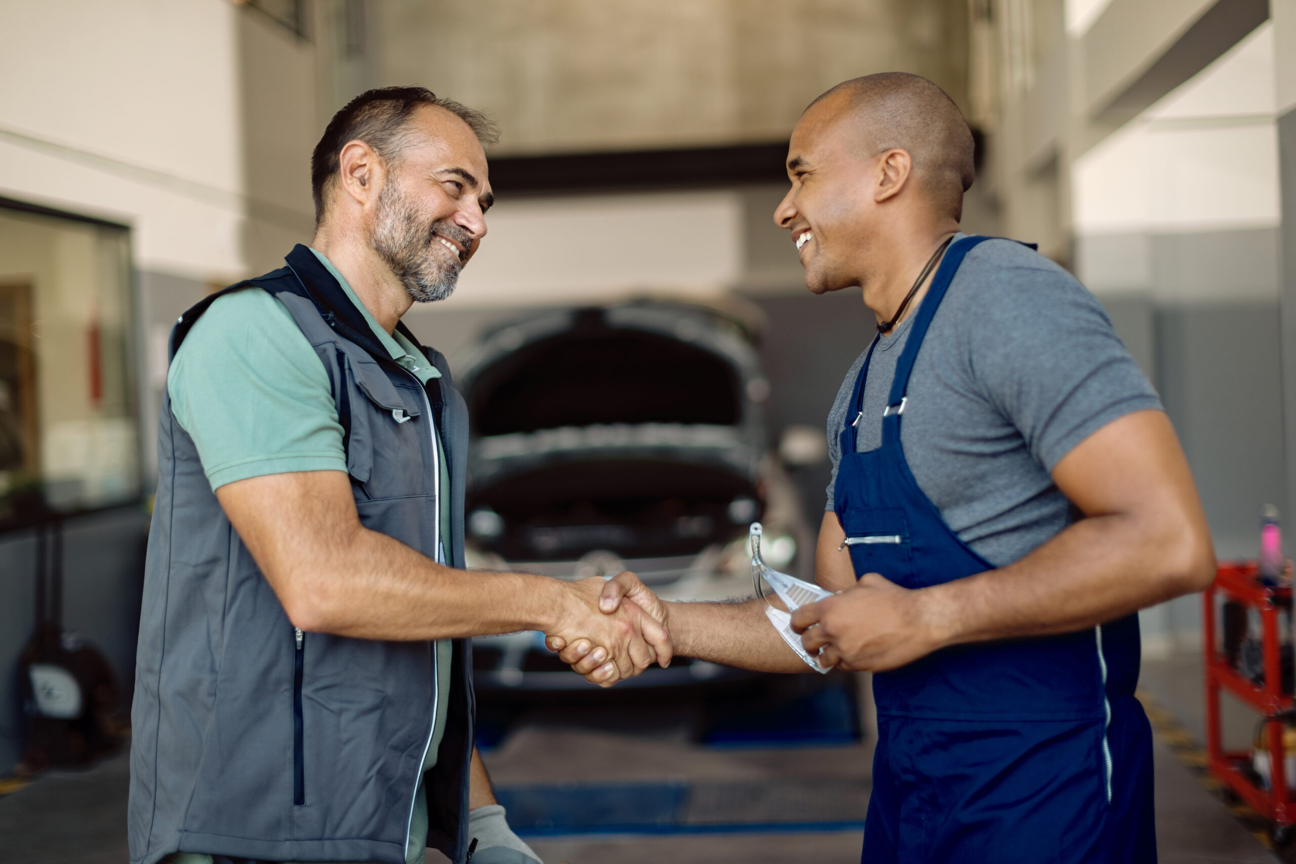
[[[946,253],[896,367],[881,447],[864,453],[855,452],[855,422],[866,422],[876,341],[859,370],[835,500],[857,578],[879,573],[923,588],[994,569],[918,487],[899,437],[928,325],[984,240]],[[1152,738],[1134,698],[1138,671],[1130,615],[1061,636],[946,648],[874,675],[879,734],[862,860],[1155,861]]]

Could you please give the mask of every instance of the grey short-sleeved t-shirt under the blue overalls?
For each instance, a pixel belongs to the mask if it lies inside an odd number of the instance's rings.
[[[915,317],[874,351],[858,452],[881,444],[883,411]],[[866,345],[828,415],[829,510],[840,434],[848,408],[855,413],[849,403],[867,352]],[[1161,407],[1094,295],[1007,240],[985,241],[964,258],[914,361],[907,396],[901,444],[919,488],[997,567],[1069,525],[1070,504],[1050,477],[1063,456],[1113,420]]]

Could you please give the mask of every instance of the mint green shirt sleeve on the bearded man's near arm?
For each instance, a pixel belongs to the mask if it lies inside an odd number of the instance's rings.
[[[288,472],[346,470],[328,373],[283,303],[260,289],[222,297],[167,372],[176,422],[211,488]]]

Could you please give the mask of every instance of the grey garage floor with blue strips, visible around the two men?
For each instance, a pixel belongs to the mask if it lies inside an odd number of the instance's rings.
[[[1142,685],[1152,714],[1173,715],[1200,740],[1199,658],[1148,662]],[[1230,733],[1245,736],[1249,719],[1234,714]],[[1275,861],[1183,764],[1182,733],[1166,737],[1178,749],[1164,740],[1156,745],[1160,860]],[[737,747],[697,740],[688,703],[595,702],[527,711],[486,762],[502,797],[531,824],[550,825],[527,838],[548,864],[859,860],[867,745]],[[0,864],[127,861],[127,779],[126,759],[117,758],[88,772],[49,773],[0,798]],[[546,815],[555,801],[562,807]],[[562,813],[573,812],[600,825],[597,833],[562,834]],[[632,824],[621,825],[626,820]],[[445,864],[435,854],[432,861]]]

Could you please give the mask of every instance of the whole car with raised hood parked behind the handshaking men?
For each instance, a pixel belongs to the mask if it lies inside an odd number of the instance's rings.
[[[809,531],[767,452],[756,326],[666,302],[560,308],[499,324],[459,364],[468,402],[469,567],[557,579],[632,570],[666,600],[752,595],[748,526],[793,566]],[[542,633],[473,640],[478,689],[592,688]],[[679,658],[621,687],[749,675]]]

